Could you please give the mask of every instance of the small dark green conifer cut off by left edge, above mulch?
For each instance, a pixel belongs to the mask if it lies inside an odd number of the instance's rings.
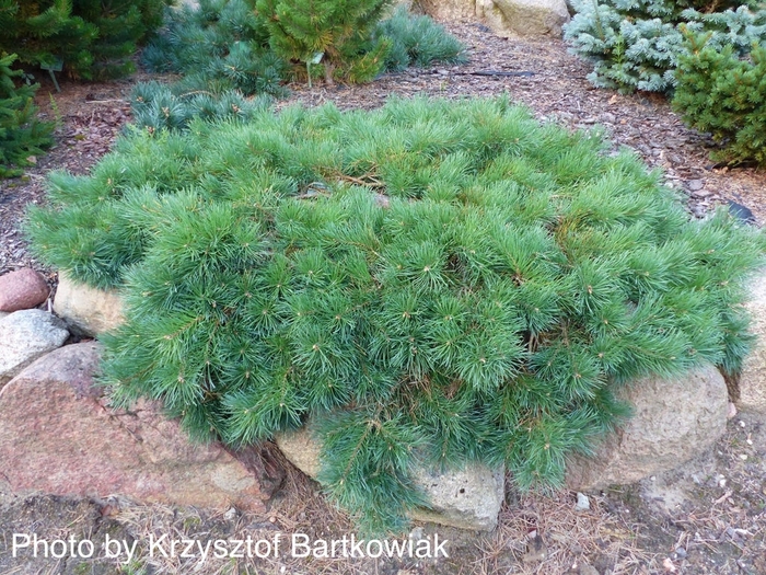
[[[27,158],[43,153],[53,143],[51,122],[37,118],[34,94],[38,84],[16,85],[21,70],[11,69],[15,54],[0,54],[0,177],[22,174]]]

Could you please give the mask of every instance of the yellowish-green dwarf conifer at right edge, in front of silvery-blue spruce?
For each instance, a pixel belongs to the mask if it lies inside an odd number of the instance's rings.
[[[686,34],[673,108],[723,146],[717,160],[766,165],[766,43],[741,57],[733,46],[711,46],[709,37]]]

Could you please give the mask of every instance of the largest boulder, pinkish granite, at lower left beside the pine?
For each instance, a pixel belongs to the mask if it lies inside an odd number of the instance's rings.
[[[69,345],[0,390],[0,480],[7,488],[264,509],[269,493],[254,473],[252,453],[243,463],[218,442],[192,444],[154,403],[111,410],[93,383],[98,359],[96,343]]]

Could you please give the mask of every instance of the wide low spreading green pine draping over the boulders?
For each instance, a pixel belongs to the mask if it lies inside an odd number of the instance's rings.
[[[561,485],[637,377],[747,349],[763,234],[689,221],[628,152],[495,101],[256,111],[137,130],[31,211],[48,264],[118,287],[117,405],[160,400],[247,445],[310,416],[362,526],[422,501],[411,467],[506,463]]]

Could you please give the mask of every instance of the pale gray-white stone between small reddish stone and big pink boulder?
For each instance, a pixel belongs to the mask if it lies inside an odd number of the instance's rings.
[[[63,322],[43,310],[20,310],[0,319],[0,387],[69,337]]]

